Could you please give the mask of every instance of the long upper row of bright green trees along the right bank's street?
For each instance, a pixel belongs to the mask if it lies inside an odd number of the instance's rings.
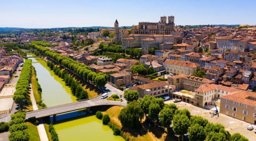
[[[92,72],[90,67],[88,67],[87,65],[81,64],[69,57],[62,56],[42,46],[38,46],[37,42],[32,41],[31,44],[35,49],[45,54],[47,57],[51,58],[56,63],[65,67],[69,71],[73,72],[76,76],[83,79],[84,81],[91,81],[96,86],[102,87],[105,86],[107,80],[109,79],[108,75],[103,73],[96,74],[95,72]]]

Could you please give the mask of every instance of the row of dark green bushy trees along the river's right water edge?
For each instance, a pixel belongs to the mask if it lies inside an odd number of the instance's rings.
[[[67,71],[61,72],[60,68],[55,66],[53,62],[47,61],[47,66],[50,67],[53,72],[65,81],[65,84],[71,88],[71,92],[77,97],[77,100],[84,100],[88,98],[88,92],[83,89],[78,81],[75,81]]]

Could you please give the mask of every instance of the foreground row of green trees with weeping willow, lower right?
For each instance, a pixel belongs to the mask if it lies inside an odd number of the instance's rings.
[[[171,124],[175,134],[182,137],[188,134],[191,141],[249,141],[239,133],[231,136],[222,124],[211,123],[201,116],[193,116],[188,109],[179,110],[173,104],[164,104],[162,98],[146,95],[138,100],[137,91],[127,90],[124,92],[124,98],[128,105],[123,108],[118,115],[118,119],[123,126],[138,129],[144,117],[155,122],[159,120],[160,126],[170,130]]]

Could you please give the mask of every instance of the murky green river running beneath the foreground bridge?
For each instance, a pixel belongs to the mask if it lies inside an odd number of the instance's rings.
[[[34,55],[27,54],[27,56]],[[29,59],[32,59],[32,65],[37,72],[38,82],[42,88],[43,103],[51,106],[76,100],[70,88],[50,70],[44,60],[41,58]],[[60,114],[56,119],[54,128],[60,141],[124,141],[121,136],[113,135],[112,129],[103,125],[102,121],[94,114],[85,115],[85,110]]]

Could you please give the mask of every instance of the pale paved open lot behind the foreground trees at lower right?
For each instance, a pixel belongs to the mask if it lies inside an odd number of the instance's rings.
[[[173,100],[165,101],[166,104],[173,103]],[[185,102],[178,102],[175,103],[179,109],[188,109],[190,110],[192,115],[199,115],[206,119],[208,119],[210,122],[213,123],[221,123],[225,126],[225,129],[230,132],[230,134],[234,133],[240,133],[247,137],[250,141],[255,140],[256,134],[254,133],[254,130],[250,131],[247,130],[247,126],[250,125],[250,123],[235,119],[233,117],[224,115],[219,113],[218,116],[211,117],[211,114],[209,112],[212,112],[212,110],[203,109],[200,107],[196,107],[194,105],[185,103]],[[256,125],[252,125],[254,129],[256,129]]]

